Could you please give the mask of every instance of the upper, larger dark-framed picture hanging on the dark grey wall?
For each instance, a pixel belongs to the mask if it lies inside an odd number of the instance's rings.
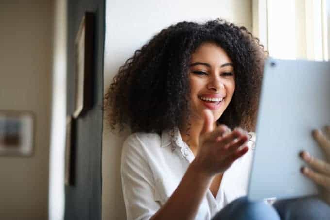
[[[94,13],[86,12],[75,39],[75,108],[77,118],[92,107],[94,69]]]

